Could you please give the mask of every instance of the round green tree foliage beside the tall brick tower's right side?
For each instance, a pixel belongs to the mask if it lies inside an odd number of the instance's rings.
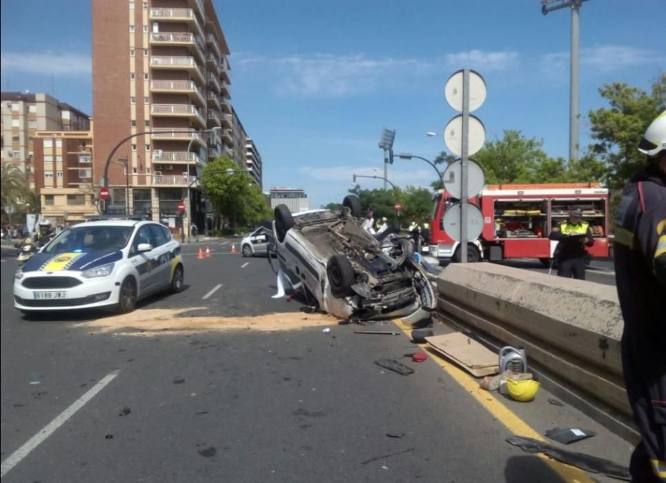
[[[271,216],[271,208],[261,188],[251,182],[238,165],[226,156],[210,161],[204,168],[203,184],[217,215],[235,224],[256,224]]]

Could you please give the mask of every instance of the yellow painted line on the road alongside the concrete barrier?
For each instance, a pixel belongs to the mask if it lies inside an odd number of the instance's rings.
[[[400,320],[394,320],[393,322],[395,322],[395,325],[401,328],[402,331],[409,335],[411,338],[412,329],[410,326],[403,324]],[[419,345],[424,349],[428,347],[428,344]],[[539,441],[545,441],[537,431],[535,431],[525,421],[521,420],[520,417],[511,411],[511,409],[507,408],[507,406],[502,404],[496,397],[493,397],[491,393],[482,389],[478,382],[473,379],[473,377],[462,371],[462,369],[458,368],[458,366],[449,364],[449,362],[444,361],[442,357],[438,357],[427,350],[424,350],[424,352],[427,353],[429,357],[433,359],[433,361],[435,361],[442,369],[444,369],[444,371],[447,371],[447,373],[453,377],[453,380],[458,382],[458,384],[460,384],[460,386],[462,386],[462,388],[464,388],[464,390],[467,391],[469,395],[476,399],[478,403],[486,409],[486,411],[491,413],[491,415],[493,415],[496,420],[504,424],[507,429],[511,431],[511,433],[518,436],[531,437]],[[562,477],[565,482],[594,482],[594,480],[587,476],[586,473],[574,466],[569,466],[568,464],[560,463],[556,460],[551,460],[543,453],[538,453],[538,456],[542,458],[542,460],[545,460],[551,469],[558,473],[558,475],[560,475],[560,477]]]

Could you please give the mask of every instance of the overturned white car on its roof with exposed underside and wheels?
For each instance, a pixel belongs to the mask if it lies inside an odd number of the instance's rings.
[[[308,303],[340,319],[357,322],[402,318],[430,322],[436,300],[426,272],[413,257],[413,242],[398,228],[370,235],[361,228],[357,197],[341,210],[292,215],[275,207],[272,249],[277,254],[278,293],[302,290]],[[270,257],[269,257],[270,260]]]

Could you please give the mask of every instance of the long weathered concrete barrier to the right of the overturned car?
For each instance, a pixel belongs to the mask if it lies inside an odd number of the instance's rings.
[[[499,341],[624,415],[623,319],[616,288],[497,264],[450,264],[438,308]]]

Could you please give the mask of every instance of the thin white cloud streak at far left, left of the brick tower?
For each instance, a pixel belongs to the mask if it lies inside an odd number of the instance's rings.
[[[0,54],[3,71],[28,72],[55,77],[90,76],[92,63],[89,55],[56,54],[52,52],[24,52]]]

